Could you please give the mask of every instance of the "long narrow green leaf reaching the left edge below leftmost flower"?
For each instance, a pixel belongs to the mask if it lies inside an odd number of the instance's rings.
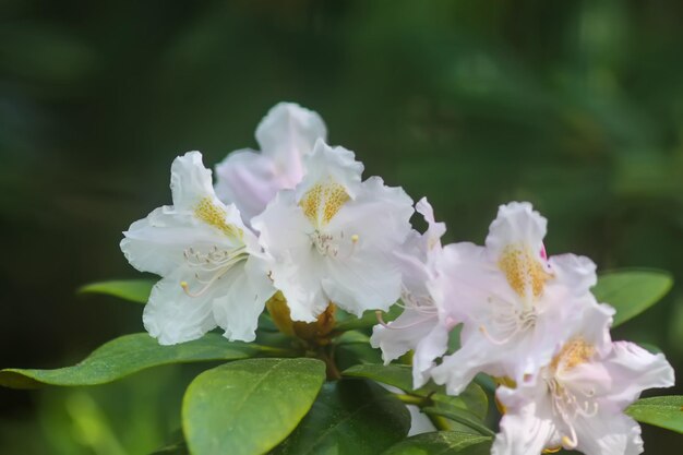
[[[56,370],[10,368],[0,371],[0,385],[33,388],[40,384],[95,385],[168,363],[237,360],[252,357],[259,346],[230,343],[217,334],[175,346],[160,346],[146,333],[124,335],[95,349],[82,362]]]

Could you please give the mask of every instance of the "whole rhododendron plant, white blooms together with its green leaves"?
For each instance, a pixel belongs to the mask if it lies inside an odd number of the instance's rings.
[[[639,422],[683,432],[683,397],[640,398],[674,384],[664,355],[611,335],[667,273],[548,251],[528,202],[490,207],[483,244],[443,244],[439,207],[364,176],[317,113],[278,104],[255,135],[260,151],[215,172],[178,156],[170,205],[123,232],[127,260],[158,280],[85,288],[145,303],[146,333],[0,382],[211,362],[168,454],[632,455]]]

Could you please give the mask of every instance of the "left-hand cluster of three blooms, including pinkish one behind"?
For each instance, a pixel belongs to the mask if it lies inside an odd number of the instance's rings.
[[[411,235],[412,201],[381,178],[361,179],[352,152],[325,143],[320,116],[279,104],[256,129],[262,153],[237,151],[212,172],[199,152],[171,166],[173,205],[123,232],[121,250],[163,279],[143,321],[163,345],[221,327],[251,342],[279,290],[295,321],[334,302],[360,315],[400,297],[393,253]]]

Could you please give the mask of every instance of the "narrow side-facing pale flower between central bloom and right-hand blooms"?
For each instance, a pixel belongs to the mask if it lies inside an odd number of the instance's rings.
[[[434,220],[427,199],[421,199],[416,209],[424,217],[428,228],[422,235],[414,230],[396,253],[403,276],[404,311],[395,321],[375,325],[370,342],[382,349],[384,364],[414,349],[412,378],[414,387],[418,388],[429,380],[434,360],[446,351],[452,326],[441,321],[439,308],[427,288],[427,282],[435,276],[446,226]]]

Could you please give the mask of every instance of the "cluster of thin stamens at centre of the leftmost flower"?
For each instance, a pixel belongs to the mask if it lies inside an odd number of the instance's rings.
[[[180,282],[180,286],[190,297],[204,295],[213,285],[218,282],[230,268],[249,256],[244,246],[233,249],[219,249],[214,246],[208,252],[200,252],[193,248],[183,251],[185,264],[194,270],[193,284],[197,285],[197,290],[191,290],[188,282]]]

